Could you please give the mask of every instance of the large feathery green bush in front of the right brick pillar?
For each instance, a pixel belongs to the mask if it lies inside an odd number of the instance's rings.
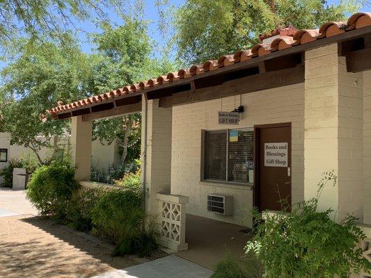
[[[370,270],[371,263],[358,247],[365,235],[352,215],[337,223],[333,211],[317,211],[326,183],[336,185],[333,172],[319,182],[317,196],[300,202],[291,213],[271,214],[262,222],[255,211],[256,234],[246,245],[262,261],[267,278],[349,277],[351,272]]]

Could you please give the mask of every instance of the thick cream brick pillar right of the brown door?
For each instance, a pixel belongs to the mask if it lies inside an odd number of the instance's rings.
[[[304,193],[314,197],[321,173],[335,170],[338,184],[324,188],[319,208],[339,219],[363,214],[362,88],[362,74],[347,72],[337,44],[306,52]]]

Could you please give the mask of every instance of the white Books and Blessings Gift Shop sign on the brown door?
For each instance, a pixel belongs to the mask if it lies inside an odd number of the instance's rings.
[[[267,167],[287,167],[287,150],[287,142],[265,143],[264,165]]]

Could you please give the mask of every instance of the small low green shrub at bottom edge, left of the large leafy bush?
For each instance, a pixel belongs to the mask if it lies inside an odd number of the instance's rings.
[[[256,259],[242,259],[238,261],[228,256],[216,264],[215,272],[210,278],[260,278],[262,264]]]

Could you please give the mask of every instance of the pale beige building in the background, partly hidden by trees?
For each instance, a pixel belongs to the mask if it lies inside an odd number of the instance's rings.
[[[58,147],[68,149],[68,139],[70,136],[63,136],[58,138]],[[53,138],[50,140],[53,145]],[[47,158],[51,154],[53,149],[43,147],[40,149],[40,157],[42,159]],[[11,158],[27,158],[31,156],[35,161],[35,153],[24,146],[10,145],[10,133],[0,132],[0,169],[8,166]],[[111,145],[103,145],[99,140],[92,142],[92,167],[104,169],[109,167],[113,163],[120,161],[120,154],[118,153],[118,145],[116,142],[112,142]],[[0,184],[3,183],[2,177],[0,177]]]

